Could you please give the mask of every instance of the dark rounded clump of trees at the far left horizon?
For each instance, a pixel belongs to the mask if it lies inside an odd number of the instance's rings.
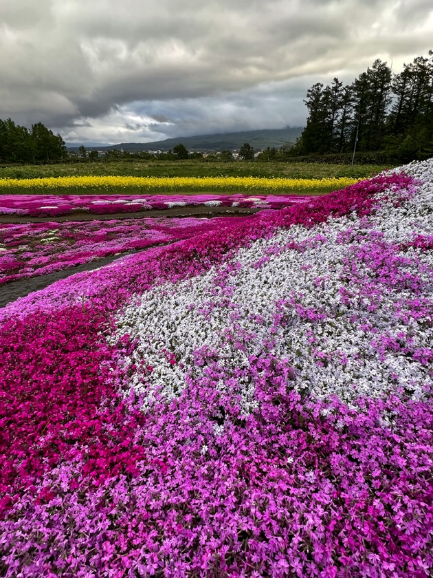
[[[0,118],[0,162],[41,162],[67,158],[66,144],[42,122],[29,130]]]

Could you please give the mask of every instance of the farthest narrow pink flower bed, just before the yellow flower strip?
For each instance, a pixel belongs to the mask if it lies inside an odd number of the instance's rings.
[[[0,215],[58,217],[75,211],[110,215],[181,206],[282,208],[308,199],[302,195],[0,195]]]

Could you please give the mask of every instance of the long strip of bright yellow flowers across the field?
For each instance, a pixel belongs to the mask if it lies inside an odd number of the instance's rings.
[[[284,179],[259,177],[82,176],[0,179],[0,193],[167,193],[196,191],[336,191],[361,179]]]

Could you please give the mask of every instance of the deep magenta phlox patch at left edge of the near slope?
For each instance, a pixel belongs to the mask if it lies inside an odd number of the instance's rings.
[[[0,330],[0,490],[33,484],[68,460],[98,480],[131,473],[143,447],[133,431],[144,416],[108,383],[110,348],[101,306],[34,314]],[[32,347],[29,347],[32,343]]]

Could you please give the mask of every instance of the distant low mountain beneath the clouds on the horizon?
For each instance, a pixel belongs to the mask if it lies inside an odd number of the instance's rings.
[[[189,151],[224,151],[226,149],[240,149],[244,142],[249,142],[256,151],[267,147],[281,147],[285,142],[295,142],[302,133],[303,127],[286,127],[285,129],[265,129],[259,131],[241,131],[221,134],[202,134],[198,136],[179,136],[177,138],[166,138],[165,140],[155,140],[154,142],[121,142],[111,145],[94,145],[83,143],[87,150],[97,149],[98,151],[110,151],[113,149],[123,149],[124,151],[162,151],[166,152],[180,142]],[[92,143],[93,144],[93,143]],[[70,150],[77,150],[80,144]]]

